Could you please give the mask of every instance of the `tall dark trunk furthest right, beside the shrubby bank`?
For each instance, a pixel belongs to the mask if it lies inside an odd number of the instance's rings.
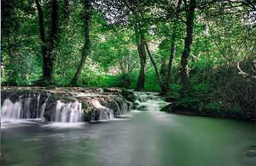
[[[180,61],[180,75],[181,75],[181,83],[182,89],[180,94],[184,96],[186,91],[189,89],[189,68],[188,68],[188,58],[191,50],[191,44],[193,40],[193,25],[195,18],[195,6],[196,0],[189,1],[189,8],[187,9],[186,16],[186,38],[184,44],[184,51],[182,52],[182,57]]]

